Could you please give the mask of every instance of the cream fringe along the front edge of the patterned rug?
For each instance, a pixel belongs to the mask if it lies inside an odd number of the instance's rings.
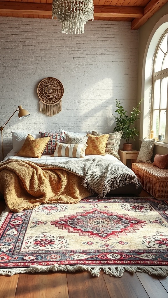
[[[9,275],[19,273],[35,273],[35,272],[49,272],[49,271],[84,271],[87,270],[92,276],[99,277],[100,271],[103,270],[105,274],[114,277],[122,277],[124,271],[129,271],[130,273],[135,272],[145,272],[149,275],[167,277],[168,267],[164,266],[83,266],[83,265],[52,265],[52,266],[30,266],[29,268],[10,268],[10,269],[0,269],[0,275]]]

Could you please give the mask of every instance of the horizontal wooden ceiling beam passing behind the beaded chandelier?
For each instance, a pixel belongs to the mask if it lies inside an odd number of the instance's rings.
[[[0,1],[1,13],[22,13],[33,15],[52,15],[52,4],[33,2]],[[95,17],[140,18],[143,7],[132,6],[94,6]]]

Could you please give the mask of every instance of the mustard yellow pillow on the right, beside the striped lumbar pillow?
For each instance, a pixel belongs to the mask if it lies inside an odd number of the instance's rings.
[[[87,134],[88,140],[85,149],[85,155],[105,155],[106,143],[109,138],[109,134],[103,134],[101,136],[93,136]]]

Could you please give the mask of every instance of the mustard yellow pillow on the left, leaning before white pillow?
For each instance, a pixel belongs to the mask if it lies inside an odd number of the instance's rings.
[[[51,136],[34,139],[31,134],[28,134],[22,148],[15,156],[40,158],[50,138]]]

